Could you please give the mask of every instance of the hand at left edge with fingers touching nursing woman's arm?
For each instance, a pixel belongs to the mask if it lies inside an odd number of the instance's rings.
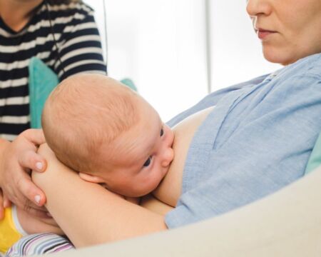
[[[13,142],[6,143],[0,158],[1,206],[8,207],[11,201],[33,215],[46,216],[45,209],[41,208],[46,196],[30,177],[31,170],[46,169],[46,160],[36,153],[37,147],[44,142],[42,130],[28,129]]]

